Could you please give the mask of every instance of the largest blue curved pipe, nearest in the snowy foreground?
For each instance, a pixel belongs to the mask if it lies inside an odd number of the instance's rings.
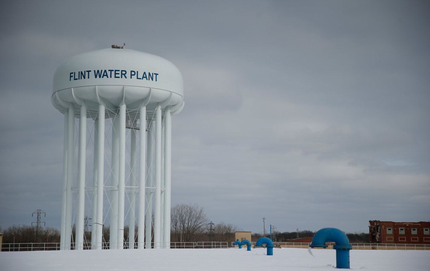
[[[349,244],[347,235],[336,228],[323,228],[315,233],[310,243],[310,247],[326,248],[326,242],[335,242],[336,245],[336,268],[350,268],[349,251],[352,246]]]

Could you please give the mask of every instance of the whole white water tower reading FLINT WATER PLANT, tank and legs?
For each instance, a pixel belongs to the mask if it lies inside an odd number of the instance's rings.
[[[130,249],[169,247],[171,116],[184,107],[183,88],[171,62],[122,46],[76,55],[57,68],[51,101],[64,114],[61,249],[72,247],[73,224],[76,249],[102,249],[107,225],[111,249],[122,249],[124,237]]]

